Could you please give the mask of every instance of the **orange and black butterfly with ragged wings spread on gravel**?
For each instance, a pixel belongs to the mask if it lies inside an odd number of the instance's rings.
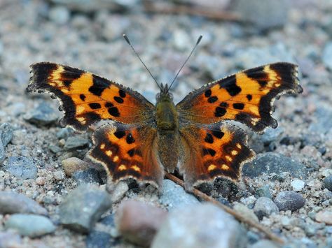
[[[179,170],[187,190],[216,177],[237,181],[254,157],[247,134],[233,120],[261,133],[277,127],[273,102],[303,91],[298,66],[286,62],[240,71],[209,82],[174,104],[170,87],[160,85],[153,105],[138,92],[93,73],[61,64],[32,64],[28,92],[48,92],[64,110],[63,126],[76,131],[101,120],[88,156],[113,180],[134,178],[162,186],[164,170]]]

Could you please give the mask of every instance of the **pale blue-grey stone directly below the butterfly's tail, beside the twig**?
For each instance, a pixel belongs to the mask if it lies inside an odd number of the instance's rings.
[[[184,188],[168,179],[162,181],[162,195],[159,199],[160,203],[165,205],[167,210],[199,202],[195,196],[188,194]]]

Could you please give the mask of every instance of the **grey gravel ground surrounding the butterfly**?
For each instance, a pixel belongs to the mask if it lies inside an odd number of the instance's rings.
[[[224,212],[200,204],[169,180],[161,195],[128,181],[109,196],[104,171],[85,158],[91,133],[62,129],[57,101],[26,94],[29,65],[55,61],[103,75],[155,102],[158,87],[123,41],[124,33],[160,82],[172,81],[203,35],[174,87],[176,102],[244,68],[275,61],[300,66],[304,92],[275,102],[279,127],[263,135],[248,130],[257,157],[244,166],[242,184],[216,180],[200,189],[284,237],[284,247],[332,247],[332,2],[247,2],[207,3],[240,13],[241,22],[234,22],[145,13],[139,0],[0,1],[0,247],[140,247],[151,242],[153,247],[186,247],[184,237],[183,243],[176,238],[181,225],[188,226],[183,235],[195,238],[200,232],[195,224],[218,226],[205,211],[224,219]],[[119,230],[125,220],[116,212],[127,199],[172,212],[159,232],[162,224],[143,220],[158,232],[155,240]],[[197,207],[174,219],[184,204]],[[172,225],[179,229],[170,232]],[[226,232],[223,244],[214,239],[220,232],[205,233],[212,240],[209,247],[275,247],[261,233],[238,225],[226,231],[217,227]]]

